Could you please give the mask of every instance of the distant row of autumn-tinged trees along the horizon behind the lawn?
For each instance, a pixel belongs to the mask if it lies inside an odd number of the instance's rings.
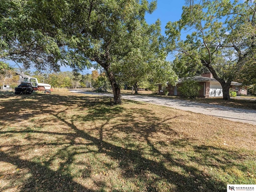
[[[9,64],[1,62],[1,87],[4,85],[10,86],[10,88],[16,87],[19,84],[19,76],[17,75],[19,72],[21,72],[20,69],[12,68]],[[80,72],[70,71],[42,73],[38,70],[23,70],[22,72],[28,76],[36,77],[40,83],[47,83],[55,88],[93,88],[95,90],[98,90],[99,88],[101,90],[109,90],[112,88],[108,76],[104,71],[98,72],[98,70],[93,70],[92,74],[82,74]],[[137,81],[130,81],[130,79],[127,79],[126,81],[122,81],[120,88],[134,88],[134,91],[137,92],[138,88],[154,90],[156,89],[156,86],[154,81],[150,81],[150,79]]]

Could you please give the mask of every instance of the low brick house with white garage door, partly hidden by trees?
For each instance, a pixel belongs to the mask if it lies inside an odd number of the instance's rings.
[[[216,79],[213,78],[212,73],[205,73],[202,74],[202,76],[194,76],[192,79],[198,82],[202,87],[199,91],[198,97],[207,98],[223,96],[222,86]],[[178,91],[178,87],[182,86],[183,80],[184,78],[178,79],[176,86],[172,86],[171,84],[167,83],[167,89],[169,92],[168,95],[181,96],[181,93]],[[230,88],[234,89],[238,95],[247,95],[248,86],[242,86],[241,83],[232,81]],[[158,94],[164,94],[162,84],[158,84]]]

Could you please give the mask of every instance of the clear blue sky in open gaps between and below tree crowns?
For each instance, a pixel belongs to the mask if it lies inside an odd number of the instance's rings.
[[[148,0],[151,2],[152,0]],[[148,24],[153,24],[156,22],[157,19],[161,21],[161,29],[162,34],[164,34],[165,26],[168,21],[177,21],[180,19],[182,14],[182,6],[184,6],[185,0],[158,0],[157,1],[157,8],[152,14],[146,14],[146,21]],[[171,60],[171,56],[168,56],[167,60]],[[10,61],[10,65],[14,67],[15,63]],[[31,68],[30,70],[34,71],[35,69]],[[60,70],[64,71],[71,71],[69,67],[61,67]],[[91,73],[94,69],[84,70],[84,73]]]

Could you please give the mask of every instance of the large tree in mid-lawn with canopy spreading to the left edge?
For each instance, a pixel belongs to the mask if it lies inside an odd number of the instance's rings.
[[[1,31],[2,57],[23,63],[26,68],[60,65],[78,71],[95,62],[106,71],[121,103],[120,85],[112,64],[132,52],[142,38],[136,29],[145,23],[146,12],[156,8],[147,0],[16,0],[4,4],[1,24],[10,28],[10,37]],[[15,28],[17,26],[17,28]],[[7,31],[8,32],[8,31]],[[7,55],[7,56],[6,56]]]

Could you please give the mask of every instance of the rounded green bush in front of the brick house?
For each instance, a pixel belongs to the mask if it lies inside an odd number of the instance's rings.
[[[186,98],[196,98],[199,94],[201,86],[198,82],[192,80],[191,78],[186,78],[182,82],[182,86],[178,88],[178,91]]]

